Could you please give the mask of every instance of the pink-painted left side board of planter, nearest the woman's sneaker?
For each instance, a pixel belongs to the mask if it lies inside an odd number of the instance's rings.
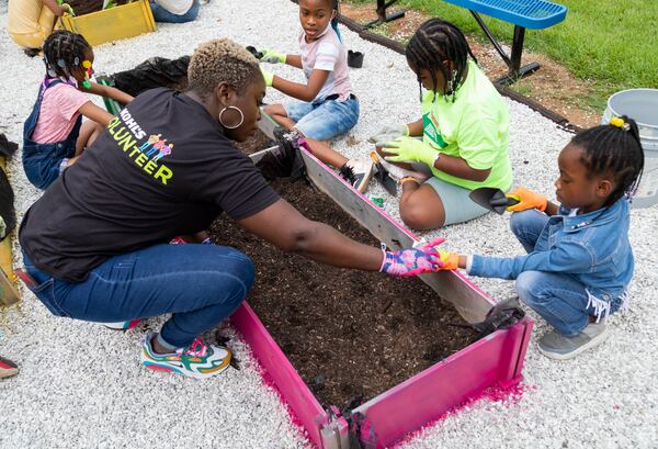
[[[294,412],[293,420],[302,424],[309,439],[321,448],[320,427],[327,424],[328,416],[308,385],[247,302],[232,314],[231,322]]]

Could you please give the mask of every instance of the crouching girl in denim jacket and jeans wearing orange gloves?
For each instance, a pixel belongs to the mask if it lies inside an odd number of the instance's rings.
[[[635,122],[614,117],[576,135],[557,159],[554,204],[517,189],[510,226],[524,256],[496,258],[441,252],[443,269],[517,280],[522,302],[555,329],[538,348],[566,360],[605,340],[605,317],[625,305],[633,277],[628,200],[637,189],[644,154]],[[522,212],[521,212],[522,211]],[[603,319],[602,319],[603,318]]]

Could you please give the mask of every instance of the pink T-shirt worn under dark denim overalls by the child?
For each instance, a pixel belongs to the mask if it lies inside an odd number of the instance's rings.
[[[32,141],[37,144],[65,141],[76,125],[78,111],[88,101],[84,93],[65,82],[46,89]]]

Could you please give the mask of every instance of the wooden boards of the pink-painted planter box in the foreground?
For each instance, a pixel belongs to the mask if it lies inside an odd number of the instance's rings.
[[[263,122],[261,128],[271,135],[271,123],[266,117]],[[252,158],[260,159],[262,153],[252,155]],[[342,182],[333,170],[308,151],[304,151],[303,157],[314,183],[376,238],[392,248],[408,247],[417,242],[413,234]],[[458,271],[419,278],[451,301],[469,323],[483,321],[496,303]],[[309,439],[322,449],[348,449],[350,438],[360,438],[367,447],[389,446],[487,388],[512,386],[522,379],[523,360],[533,327],[533,322],[525,317],[360,405],[352,411],[352,417],[362,420],[360,435],[355,436],[348,431],[343,417],[321,407],[248,304],[240,306],[231,319],[290,405],[296,420],[304,426]],[[337,412],[336,407],[332,408]]]

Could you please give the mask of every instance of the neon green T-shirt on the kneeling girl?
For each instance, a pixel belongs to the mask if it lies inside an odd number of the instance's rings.
[[[432,91],[423,97],[422,123],[426,144],[461,157],[476,170],[491,169],[483,182],[433,170],[436,178],[470,190],[494,187],[507,191],[512,186],[508,106],[475,61],[468,60],[468,74],[454,103],[452,96],[445,100]]]

